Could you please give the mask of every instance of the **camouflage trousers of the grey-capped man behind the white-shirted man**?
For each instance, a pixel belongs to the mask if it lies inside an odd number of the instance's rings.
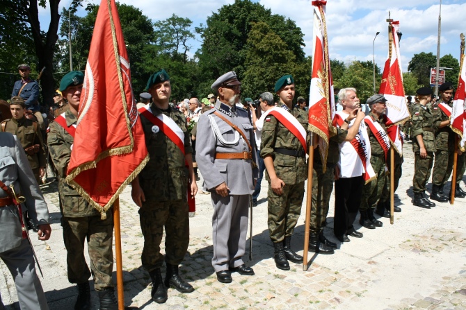
[[[385,155],[372,155],[371,166],[373,171],[376,173],[376,180],[364,184],[362,187],[361,205],[360,211],[364,212],[367,209],[375,209],[377,207],[378,200],[382,196],[383,187],[385,187]]]

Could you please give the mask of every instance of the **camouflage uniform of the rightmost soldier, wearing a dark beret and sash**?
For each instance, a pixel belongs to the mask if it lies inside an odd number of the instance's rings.
[[[453,103],[449,104],[450,107]],[[448,121],[449,117],[437,103],[433,105],[433,114],[440,121]],[[450,178],[453,170],[453,153],[455,151],[455,135],[450,126],[438,128],[435,132],[435,164],[432,171],[432,184],[441,187]]]

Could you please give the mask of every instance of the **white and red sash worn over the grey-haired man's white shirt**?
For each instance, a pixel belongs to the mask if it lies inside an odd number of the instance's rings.
[[[339,113],[335,114],[335,117],[333,118],[333,126],[342,127],[343,122],[343,117]],[[364,182],[367,184],[376,178],[376,173],[373,171],[371,165],[371,144],[369,142],[369,137],[367,136],[367,131],[361,130],[360,128],[353,140],[350,141],[350,144],[353,146],[354,152],[362,162],[362,167],[364,169],[362,176],[364,178]],[[340,158],[340,160],[342,160],[342,158]],[[351,165],[354,163],[348,162],[348,164]]]

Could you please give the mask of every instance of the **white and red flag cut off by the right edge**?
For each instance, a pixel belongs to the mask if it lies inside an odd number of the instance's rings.
[[[460,59],[460,76],[458,78],[458,87],[456,88],[455,97],[453,98],[453,109],[451,110],[450,127],[461,137],[460,146],[465,147],[465,98],[466,98],[466,63],[465,54],[461,53]]]

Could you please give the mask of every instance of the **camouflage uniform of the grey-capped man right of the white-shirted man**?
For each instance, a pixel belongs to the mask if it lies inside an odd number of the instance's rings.
[[[373,119],[374,123],[379,123],[382,129],[385,130],[385,123],[383,123],[383,117],[378,118],[376,114],[369,113],[369,117]],[[382,195],[383,187],[385,187],[385,152],[383,147],[378,142],[378,139],[369,126],[367,127],[367,135],[371,142],[371,166],[373,171],[376,173],[376,180],[364,184],[362,187],[361,205],[359,207],[360,212],[367,211],[367,209],[375,209],[377,207],[378,200]]]

